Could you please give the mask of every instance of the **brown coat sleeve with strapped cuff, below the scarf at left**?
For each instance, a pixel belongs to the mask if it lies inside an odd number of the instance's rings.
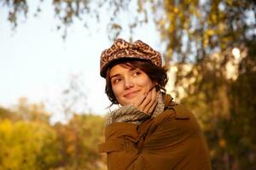
[[[108,170],[143,169],[133,168],[134,161],[143,161],[139,158],[140,154],[136,148],[140,138],[141,135],[137,133],[137,125],[134,123],[114,122],[106,127],[106,142],[99,144],[99,151],[107,152]]]

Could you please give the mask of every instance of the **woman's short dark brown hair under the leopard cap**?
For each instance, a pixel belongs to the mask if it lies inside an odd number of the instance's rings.
[[[118,104],[117,99],[115,98],[113,94],[112,84],[110,80],[110,69],[113,67],[113,65],[123,64],[127,67],[131,67],[133,69],[140,69],[141,71],[144,71],[150,80],[152,82],[157,82],[157,85],[155,86],[156,91],[162,90],[164,93],[166,93],[166,83],[168,82],[167,77],[167,71],[168,69],[166,66],[157,66],[154,65],[149,60],[145,59],[119,59],[116,62],[114,62],[112,65],[108,66],[108,70],[106,71],[106,87],[105,87],[105,93],[108,95],[108,99],[113,104]]]

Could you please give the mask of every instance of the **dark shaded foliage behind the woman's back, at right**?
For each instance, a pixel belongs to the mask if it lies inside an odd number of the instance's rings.
[[[254,41],[246,44],[247,54],[237,65],[237,78],[228,79],[225,74],[225,65],[233,60],[230,53],[204,60],[200,66],[207,65],[208,68],[201,70],[201,79],[196,78],[197,81],[189,84],[188,94],[182,101],[201,122],[213,169],[256,168],[256,135],[253,130],[256,120],[256,53]],[[197,77],[193,71],[188,74],[192,76],[183,79]]]

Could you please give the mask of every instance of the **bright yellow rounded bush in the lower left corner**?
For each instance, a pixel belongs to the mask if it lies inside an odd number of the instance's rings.
[[[61,160],[56,133],[42,122],[0,121],[0,169],[48,169]]]

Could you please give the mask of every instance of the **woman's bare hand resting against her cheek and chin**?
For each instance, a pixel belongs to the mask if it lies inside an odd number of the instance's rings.
[[[155,88],[150,89],[148,94],[144,94],[134,105],[138,110],[151,114],[154,111],[154,107],[157,105],[157,93]]]

